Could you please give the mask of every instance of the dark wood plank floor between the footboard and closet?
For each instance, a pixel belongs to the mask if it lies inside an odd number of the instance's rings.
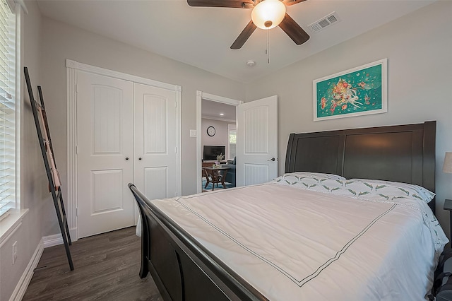
[[[44,249],[23,300],[162,300],[150,275],[141,279],[135,227],[71,245],[74,270],[61,244]]]

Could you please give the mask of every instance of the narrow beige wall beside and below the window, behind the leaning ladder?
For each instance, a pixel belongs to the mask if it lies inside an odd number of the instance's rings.
[[[32,85],[35,87],[34,93],[37,93],[36,85],[40,84],[41,16],[35,2],[30,2],[27,6],[29,14],[22,13],[21,58],[22,65],[28,66]],[[23,68],[18,72],[23,74]],[[50,203],[52,200],[47,191],[47,177],[44,172],[25,81],[22,81],[21,107],[20,202],[22,208],[29,208],[29,211],[23,218],[22,225],[0,248],[0,300],[9,300],[30,259],[32,259],[32,255],[44,234],[42,208],[44,204]],[[12,264],[12,244],[14,242],[17,242],[18,256],[16,263]]]

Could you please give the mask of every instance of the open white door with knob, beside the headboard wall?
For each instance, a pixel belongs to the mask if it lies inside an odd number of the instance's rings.
[[[278,96],[237,106],[237,186],[278,177]]]

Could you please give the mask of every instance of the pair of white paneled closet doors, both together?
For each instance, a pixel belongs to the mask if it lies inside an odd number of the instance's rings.
[[[129,182],[176,195],[176,124],[174,91],[78,71],[78,238],[136,223]]]

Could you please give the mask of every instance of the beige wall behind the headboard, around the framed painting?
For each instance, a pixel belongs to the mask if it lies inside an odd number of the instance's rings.
[[[436,120],[436,214],[448,232],[444,199],[452,198],[452,175],[442,172],[452,151],[452,1],[437,1],[398,20],[292,64],[246,86],[246,101],[278,95],[279,172],[284,172],[292,132],[419,123]],[[388,59],[388,112],[313,121],[313,85],[328,76]]]

